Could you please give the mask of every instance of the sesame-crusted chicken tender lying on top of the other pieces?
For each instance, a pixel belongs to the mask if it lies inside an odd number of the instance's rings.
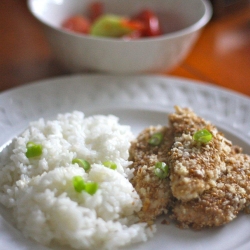
[[[173,196],[189,201],[210,188],[226,171],[226,157],[232,153],[232,143],[215,126],[188,108],[175,107],[169,115],[174,143],[169,152],[170,185]],[[212,140],[202,144],[193,140],[195,132],[206,129]]]

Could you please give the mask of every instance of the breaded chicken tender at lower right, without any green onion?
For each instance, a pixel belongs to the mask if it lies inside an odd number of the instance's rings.
[[[214,187],[197,199],[175,204],[174,217],[183,227],[201,229],[226,224],[250,204],[250,157],[232,154],[225,162],[227,171]]]

